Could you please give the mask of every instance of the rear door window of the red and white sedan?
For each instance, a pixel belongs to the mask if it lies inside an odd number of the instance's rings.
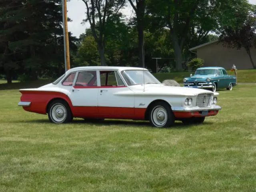
[[[97,86],[96,71],[81,71],[78,73],[75,86]]]

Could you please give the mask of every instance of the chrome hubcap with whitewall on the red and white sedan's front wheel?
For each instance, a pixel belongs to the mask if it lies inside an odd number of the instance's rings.
[[[156,126],[164,126],[167,122],[167,112],[161,106],[156,106],[152,110],[152,120]]]

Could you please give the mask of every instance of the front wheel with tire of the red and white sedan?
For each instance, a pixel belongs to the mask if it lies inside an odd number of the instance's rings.
[[[150,124],[155,127],[170,127],[174,125],[175,116],[166,102],[155,103],[149,113]]]

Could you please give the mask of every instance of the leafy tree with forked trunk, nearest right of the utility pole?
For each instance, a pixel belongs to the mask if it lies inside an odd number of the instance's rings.
[[[82,0],[86,5],[86,20],[89,22],[100,55],[102,66],[106,66],[105,46],[106,46],[106,23],[112,16],[121,16],[120,9],[125,5],[125,0]],[[98,27],[96,19],[99,20]]]

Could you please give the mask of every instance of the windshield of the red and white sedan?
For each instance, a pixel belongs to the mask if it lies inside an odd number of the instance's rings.
[[[128,85],[143,84],[144,82],[145,84],[161,84],[149,71],[146,70],[144,70],[144,72],[143,70],[124,70],[121,74]]]

